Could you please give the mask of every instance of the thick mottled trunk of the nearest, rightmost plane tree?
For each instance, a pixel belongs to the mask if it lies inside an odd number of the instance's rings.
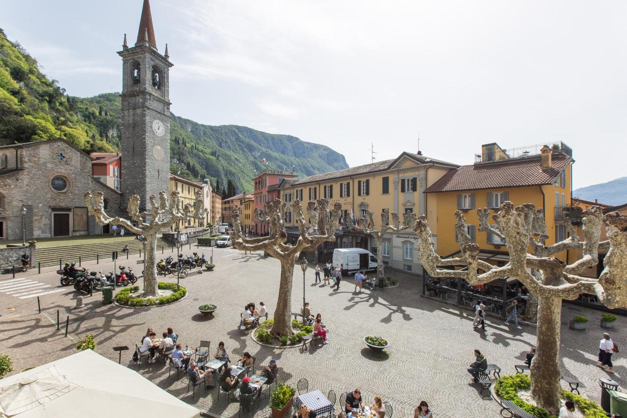
[[[542,297],[538,304],[537,351],[531,366],[531,396],[552,414],[559,410],[559,340],[561,297]]]

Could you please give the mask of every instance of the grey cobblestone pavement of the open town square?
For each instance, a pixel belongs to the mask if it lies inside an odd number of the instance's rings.
[[[204,252],[211,254],[210,249]],[[275,358],[280,380],[293,386],[304,377],[310,389],[324,393],[333,389],[338,398],[342,392],[355,387],[361,388],[367,402],[372,402],[374,395],[382,395],[393,406],[396,417],[413,416],[413,409],[420,400],[427,400],[438,417],[496,417],[500,408],[490,395],[485,392],[480,395],[466,372],[473,361],[473,349],[485,353],[489,363],[500,365],[501,375],[504,375],[514,373],[514,365],[522,363],[524,353],[535,344],[532,326],[522,325],[523,329],[517,330],[492,318],[488,320],[487,335],[473,331],[469,311],[421,297],[421,283],[413,277],[390,274],[399,279],[399,287],[361,293],[354,293],[352,279],[344,278],[340,290],[334,291],[329,286],[314,285],[313,265],[310,264],[305,282],[307,301],[311,303],[312,312],[322,313],[329,326],[330,344],[314,346],[305,353],[297,348],[267,348],[256,344],[236,325],[240,311],[249,301],[265,302],[270,315],[273,314],[280,264],[277,260],[265,259],[261,252],[244,255],[231,248],[214,250],[214,262],[215,271],[181,281],[189,291],[186,299],[163,308],[102,306],[100,294],[94,294],[85,297],[85,308],[73,310],[75,292],[66,288],[41,296],[44,313],[38,314],[36,297],[19,299],[0,292],[0,352],[13,358],[14,369],[19,372],[74,353],[78,336],[94,333],[98,353],[117,361],[113,346],[134,348],[149,326],[157,333],[172,326],[184,345],[196,346],[201,339],[211,340],[211,349],[215,350],[218,342],[224,341],[231,358],[238,358],[244,351],[250,351],[258,365],[266,365]],[[141,271],[139,266],[137,270]],[[58,289],[58,276],[51,269],[40,275],[30,271],[26,276],[16,277]],[[0,288],[3,284],[9,286],[8,281],[12,279],[3,276]],[[170,276],[166,280],[176,279]],[[302,303],[302,291],[302,271],[295,269],[293,311]],[[198,313],[196,308],[204,303],[218,305],[213,318]],[[58,331],[57,309],[60,309],[62,323]],[[581,313],[591,319],[589,329],[569,330],[569,319]],[[70,316],[67,338],[63,324],[66,315]],[[598,325],[600,316],[599,311],[571,304],[564,304],[562,315],[562,370],[581,381],[582,395],[595,400],[600,394],[599,377],[608,377],[608,373],[595,366],[598,341],[603,332]],[[621,348],[627,343],[621,326],[624,321],[623,317],[619,318],[617,329],[613,331],[614,341]],[[379,358],[365,348],[362,338],[366,335],[386,338],[391,344],[386,350],[389,358]],[[131,355],[132,350],[125,351],[122,364],[137,370]],[[609,376],[624,385],[625,362],[622,354],[614,357],[616,373]],[[217,389],[208,390],[205,395],[197,388],[192,400],[191,392],[187,394],[187,378],[181,375],[177,381],[174,375],[168,378],[167,372],[168,368],[160,364],[142,363],[139,370],[171,394],[212,414],[233,416],[238,413],[238,404],[231,403],[227,407],[223,395],[218,403]],[[268,400],[262,399],[255,416],[268,415]]]

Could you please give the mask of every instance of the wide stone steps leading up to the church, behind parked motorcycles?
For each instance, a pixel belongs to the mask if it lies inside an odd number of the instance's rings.
[[[194,239],[193,242],[196,242]],[[142,249],[142,243],[135,239],[135,237],[120,238],[115,242],[103,242],[102,244],[75,244],[66,247],[48,247],[37,249],[37,262],[41,263],[41,267],[47,267],[50,265],[56,265],[58,267],[59,260],[63,264],[66,262],[76,262],[78,265],[78,257],[81,262],[88,260],[95,260],[96,256],[101,260],[111,260],[111,254],[113,251],[118,252],[120,261],[126,260],[126,254],[122,252],[124,245],[129,245],[130,255],[129,257],[138,257],[139,250]],[[172,244],[166,242],[163,238],[157,238],[157,254],[161,254],[161,247],[168,251],[171,249]],[[142,249],[143,251],[143,249]]]

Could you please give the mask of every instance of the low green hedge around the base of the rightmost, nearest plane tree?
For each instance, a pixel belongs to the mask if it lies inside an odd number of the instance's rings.
[[[529,375],[517,373],[515,375],[503,376],[497,379],[494,385],[494,391],[498,396],[503,399],[511,400],[514,404],[518,405],[521,409],[529,412],[537,418],[557,418],[556,415],[551,415],[547,410],[527,404],[524,400],[520,399],[518,391],[520,389],[529,389],[531,387],[531,380]],[[562,398],[566,400],[572,400],[584,413],[584,418],[606,418],[607,415],[601,407],[601,405],[588,400],[581,395],[576,395],[569,392],[566,389],[562,389]]]

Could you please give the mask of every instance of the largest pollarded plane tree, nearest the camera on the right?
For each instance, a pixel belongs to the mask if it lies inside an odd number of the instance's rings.
[[[479,209],[480,216],[485,211]],[[500,206],[493,219],[498,232],[505,238],[510,261],[503,267],[495,267],[478,259],[480,248],[470,242],[466,221],[459,211],[455,227],[460,237],[461,254],[456,259],[441,259],[433,249],[431,231],[424,215],[414,225],[419,238],[419,260],[433,277],[455,277],[473,286],[485,284],[501,277],[516,277],[538,298],[537,352],[531,367],[531,395],[538,405],[557,412],[561,386],[559,380],[560,320],[562,299],[576,299],[582,293],[596,294],[608,308],[627,306],[627,217],[618,212],[603,217],[599,206],[586,210],[583,218],[583,256],[567,265],[555,257],[537,257],[528,254],[529,235],[534,225],[534,206],[517,206],[510,201]],[[579,276],[584,269],[598,263],[601,222],[606,225],[609,250],[605,267],[598,279]],[[489,227],[490,232],[497,232]],[[574,238],[573,240],[577,239]],[[557,243],[560,245],[562,243]],[[564,245],[564,244],[562,244]],[[466,265],[467,269],[447,270],[439,266]],[[527,268],[539,272],[531,274]],[[478,271],[483,271],[479,273]]]

